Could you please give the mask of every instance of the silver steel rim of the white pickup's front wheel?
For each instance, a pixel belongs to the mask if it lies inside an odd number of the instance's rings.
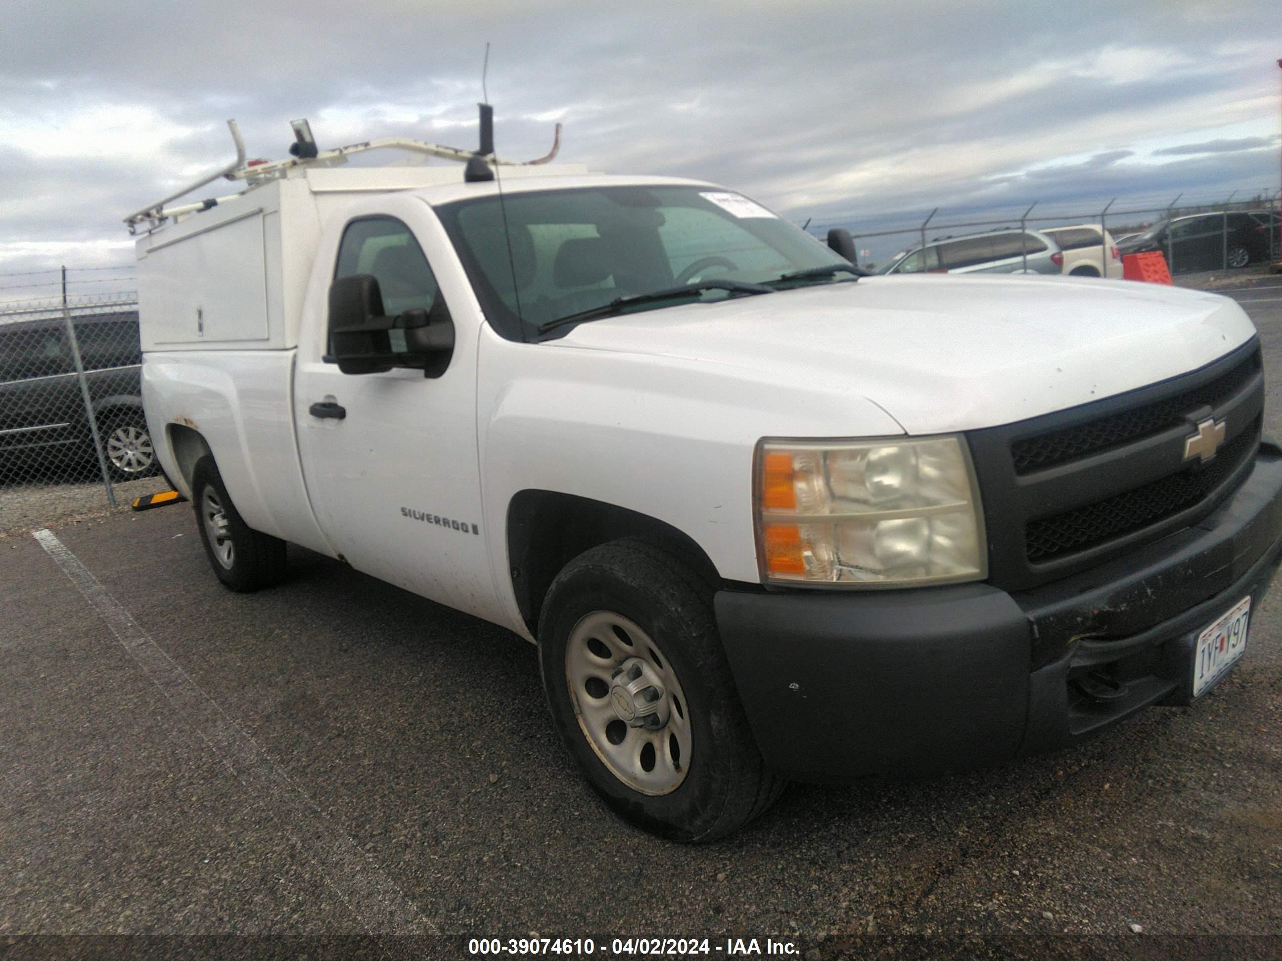
[[[681,787],[690,707],[649,634],[613,611],[583,616],[565,645],[565,680],[583,737],[615,778],[651,796]]]

